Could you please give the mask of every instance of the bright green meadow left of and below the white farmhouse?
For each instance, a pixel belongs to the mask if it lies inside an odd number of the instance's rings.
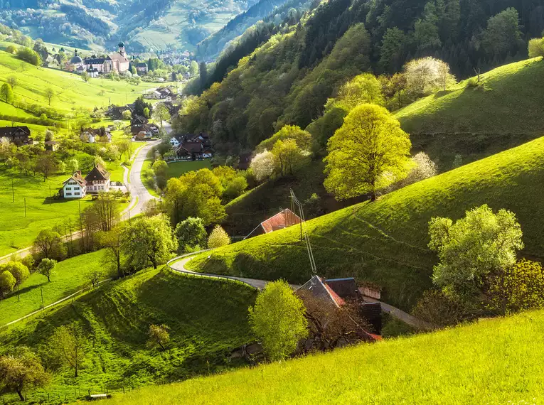
[[[124,169],[118,162],[108,163],[107,169],[112,180],[123,180]],[[78,200],[49,198],[58,193],[68,177],[68,174],[53,175],[44,182],[39,174],[33,177],[0,168],[0,257],[31,246],[41,229],[64,224],[68,220],[73,227],[78,227],[80,207],[84,210],[89,206],[92,203],[90,197],[80,200],[80,203]]]

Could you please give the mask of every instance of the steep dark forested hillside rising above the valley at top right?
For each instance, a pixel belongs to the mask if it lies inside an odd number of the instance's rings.
[[[503,0],[333,0],[282,26],[221,81],[187,106],[179,131],[209,131],[222,153],[253,148],[284,124],[303,128],[329,97],[364,71],[393,74],[432,55],[458,79],[526,58],[544,28],[544,6]],[[240,42],[242,44],[242,42]],[[210,80],[213,77],[213,80]]]

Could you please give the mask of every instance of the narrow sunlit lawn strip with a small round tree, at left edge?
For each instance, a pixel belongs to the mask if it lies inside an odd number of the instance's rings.
[[[50,283],[41,274],[31,274],[21,285],[20,297],[15,291],[11,296],[0,301],[0,326],[38,311],[42,307],[41,290],[45,306],[80,290],[87,284],[85,279],[87,271],[103,267],[103,255],[103,251],[97,251],[59,261]]]

